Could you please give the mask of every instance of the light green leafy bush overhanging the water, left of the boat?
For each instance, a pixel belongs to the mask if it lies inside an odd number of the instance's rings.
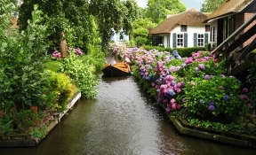
[[[81,90],[82,96],[85,98],[93,98],[97,95],[97,90],[94,86],[98,85],[95,71],[96,67],[93,66],[89,58],[77,58],[73,50],[69,51],[68,58],[63,59],[63,65],[60,66],[60,71],[68,74],[71,81]]]

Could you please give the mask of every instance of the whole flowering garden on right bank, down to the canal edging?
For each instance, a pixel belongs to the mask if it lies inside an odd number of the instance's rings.
[[[134,78],[156,98],[169,117],[190,125],[256,135],[255,64],[247,81],[228,76],[225,57],[198,50],[181,58],[178,50],[159,51],[113,45],[119,58],[130,58]]]

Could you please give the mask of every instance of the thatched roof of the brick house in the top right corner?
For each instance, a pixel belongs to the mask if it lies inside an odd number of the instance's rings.
[[[226,0],[220,5],[212,14],[204,20],[208,22],[210,19],[220,19],[229,14],[242,12],[249,4],[252,4],[254,0]]]

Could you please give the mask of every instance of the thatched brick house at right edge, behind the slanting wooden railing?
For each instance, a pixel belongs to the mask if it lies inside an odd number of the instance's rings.
[[[211,25],[210,42],[212,47],[220,45],[238,27],[242,26],[246,20],[250,19],[254,12],[256,12],[256,0],[226,0],[221,4],[219,8],[204,20],[204,23]],[[252,23],[252,25],[254,24]],[[246,32],[252,25],[246,27],[241,34]],[[238,37],[236,36],[235,39]],[[250,42],[252,42],[252,39],[245,42],[242,46]]]

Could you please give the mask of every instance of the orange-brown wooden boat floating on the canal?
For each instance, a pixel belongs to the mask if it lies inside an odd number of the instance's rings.
[[[102,72],[106,77],[118,77],[131,75],[130,66],[126,63],[105,64]]]

